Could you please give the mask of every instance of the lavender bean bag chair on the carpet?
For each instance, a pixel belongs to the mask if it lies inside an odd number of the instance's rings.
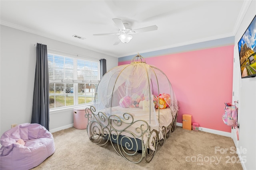
[[[6,131],[0,142],[1,170],[29,170],[55,152],[52,134],[36,123],[24,123]]]

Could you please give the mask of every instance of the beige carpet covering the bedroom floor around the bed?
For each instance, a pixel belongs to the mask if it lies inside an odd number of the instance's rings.
[[[56,151],[33,170],[242,170],[231,138],[176,127],[150,163],[128,162],[112,148],[92,143],[86,129],[52,133]],[[226,151],[225,151],[226,150]],[[201,161],[200,158],[202,158]]]

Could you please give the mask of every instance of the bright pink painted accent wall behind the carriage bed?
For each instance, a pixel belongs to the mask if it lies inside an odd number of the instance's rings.
[[[232,102],[233,50],[229,45],[145,58],[168,76],[180,106],[178,123],[191,114],[200,127],[231,132],[222,115],[224,103]]]

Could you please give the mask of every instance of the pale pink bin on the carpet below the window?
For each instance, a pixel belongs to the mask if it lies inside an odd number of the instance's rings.
[[[85,118],[85,109],[86,106],[74,108],[74,128],[86,129],[88,118]]]

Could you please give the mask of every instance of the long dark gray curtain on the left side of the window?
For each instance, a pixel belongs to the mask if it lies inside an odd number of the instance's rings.
[[[47,45],[36,45],[36,74],[31,123],[38,123],[49,131],[49,73]]]

